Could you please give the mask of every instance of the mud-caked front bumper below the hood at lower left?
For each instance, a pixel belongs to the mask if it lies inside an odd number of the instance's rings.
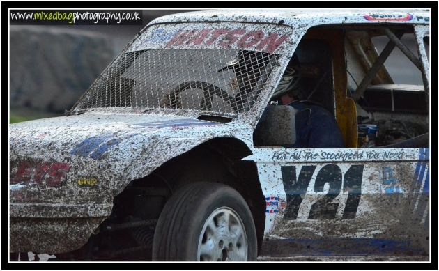
[[[79,249],[110,215],[102,204],[10,204],[10,252],[60,254]]]

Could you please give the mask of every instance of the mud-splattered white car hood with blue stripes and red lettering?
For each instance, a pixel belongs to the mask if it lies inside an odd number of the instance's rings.
[[[10,201],[96,203],[130,180],[214,137],[231,137],[231,123],[182,116],[96,114],[10,125]]]

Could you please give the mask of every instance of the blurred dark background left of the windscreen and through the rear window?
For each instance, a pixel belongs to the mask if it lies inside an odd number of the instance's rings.
[[[10,26],[10,123],[62,116],[148,22],[188,11],[143,10],[143,25],[137,26]],[[416,52],[414,42],[403,42]],[[386,43],[376,41],[379,52]],[[413,65],[399,49],[385,65],[399,84],[422,84],[419,72],[399,69]]]

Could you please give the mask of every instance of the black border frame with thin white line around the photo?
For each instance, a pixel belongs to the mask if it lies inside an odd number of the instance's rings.
[[[355,262],[324,262],[324,263],[276,263],[276,262],[258,262],[258,263],[229,263],[229,265],[214,265],[215,263],[26,263],[17,262],[9,263],[8,249],[8,8],[154,8],[162,9],[172,7],[179,8],[431,8],[431,180],[438,180],[438,127],[435,126],[438,116],[438,2],[437,1],[2,1],[1,2],[1,269],[5,270],[26,270],[26,269],[178,269],[178,270],[204,270],[204,269],[331,269],[331,270],[351,270],[351,269],[389,269],[389,270],[437,270],[438,269],[438,183],[431,182],[431,262],[430,263],[398,263],[398,262],[380,262],[380,263],[355,263]],[[182,10],[184,12],[184,10]],[[436,105],[436,106],[435,106]],[[433,163],[431,163],[433,161]],[[223,263],[224,264],[224,263]],[[231,264],[231,265],[230,265]],[[269,267],[267,264],[270,264]],[[379,264],[379,265],[378,265]]]

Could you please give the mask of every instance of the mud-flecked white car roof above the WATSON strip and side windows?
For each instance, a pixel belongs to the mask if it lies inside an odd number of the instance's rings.
[[[323,24],[429,24],[428,9],[233,9],[166,15],[150,24],[169,22],[260,22],[292,27]],[[300,25],[298,25],[300,24]]]

